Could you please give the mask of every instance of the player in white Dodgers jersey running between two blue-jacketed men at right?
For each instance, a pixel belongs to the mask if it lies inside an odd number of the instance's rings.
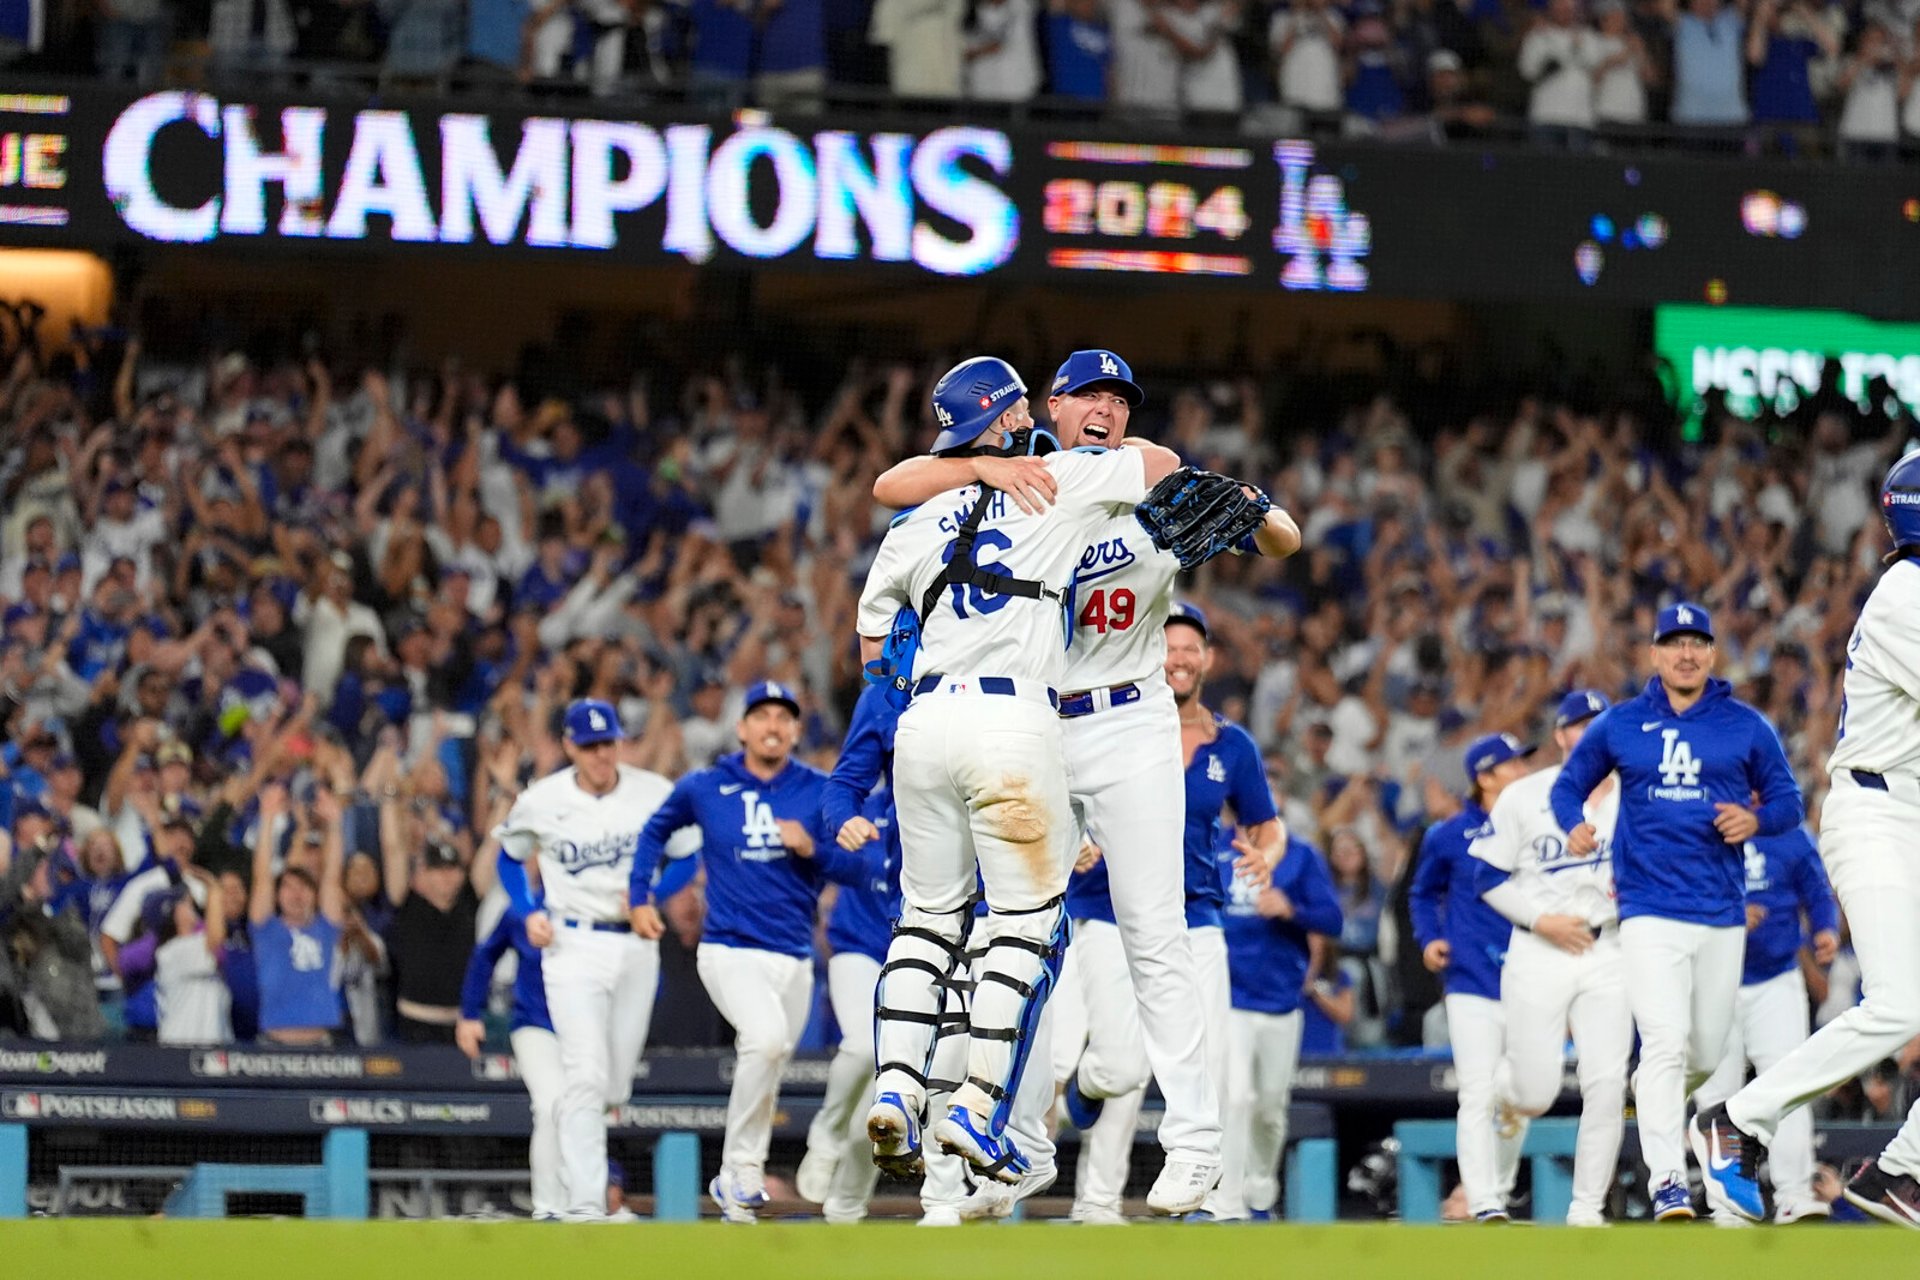
[[[1607,699],[1596,689],[1574,689],[1561,699],[1553,743],[1563,754],[1603,710]],[[1620,1159],[1626,1057],[1634,1048],[1613,904],[1620,789],[1609,773],[1586,798],[1596,844],[1572,854],[1549,804],[1559,773],[1551,766],[1509,783],[1469,852],[1478,860],[1475,889],[1515,925],[1500,971],[1507,1050],[1496,1073],[1498,1105],[1509,1128],[1513,1113],[1548,1113],[1559,1098],[1571,1031],[1580,1055],[1580,1136],[1567,1224],[1605,1226],[1601,1207]]]

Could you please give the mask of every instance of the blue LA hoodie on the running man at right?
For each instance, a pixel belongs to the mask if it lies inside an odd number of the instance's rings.
[[[1799,825],[1799,783],[1772,725],[1709,679],[1676,714],[1659,676],[1640,697],[1601,712],[1553,783],[1553,819],[1572,831],[1607,773],[1620,773],[1613,883],[1620,919],[1657,915],[1695,925],[1747,923],[1745,864],[1715,831],[1715,804],[1753,804],[1759,835]]]

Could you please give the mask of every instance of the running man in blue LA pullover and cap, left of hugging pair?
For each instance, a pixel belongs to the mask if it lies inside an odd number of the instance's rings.
[[[708,1186],[730,1222],[753,1222],[766,1203],[766,1150],[780,1071],[806,1029],[814,915],[826,879],[874,879],[877,856],[849,854],[820,819],[828,775],[793,758],[801,702],[783,685],[747,689],[739,752],[687,773],[647,819],[628,885],[634,933],[664,933],[653,873],[666,841],[701,831],[707,929],[697,967],[714,1007],[733,1027],[733,1092],[720,1174]]]

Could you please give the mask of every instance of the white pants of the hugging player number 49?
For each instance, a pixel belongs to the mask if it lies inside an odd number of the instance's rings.
[[[1073,804],[1106,856],[1146,1059],[1167,1102],[1160,1146],[1169,1157],[1217,1163],[1219,1096],[1208,1077],[1204,1000],[1185,927],[1179,712],[1158,676],[1140,687],[1139,702],[1062,722],[1066,760]]]

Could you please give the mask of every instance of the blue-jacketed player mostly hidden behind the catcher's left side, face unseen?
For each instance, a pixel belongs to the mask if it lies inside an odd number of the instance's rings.
[[[841,1029],[828,1063],[828,1092],[806,1130],[806,1155],[793,1174],[803,1199],[822,1205],[828,1222],[858,1222],[879,1178],[866,1157],[866,1102],[874,1082],[874,988],[887,963],[893,921],[900,915],[900,833],[893,816],[893,729],[900,712],[887,691],[868,685],[852,708],[847,741],[820,798],[826,831],[847,852],[879,842],[881,875],[841,885],[828,917],[828,996]],[[852,1159],[849,1153],[858,1151]]]

